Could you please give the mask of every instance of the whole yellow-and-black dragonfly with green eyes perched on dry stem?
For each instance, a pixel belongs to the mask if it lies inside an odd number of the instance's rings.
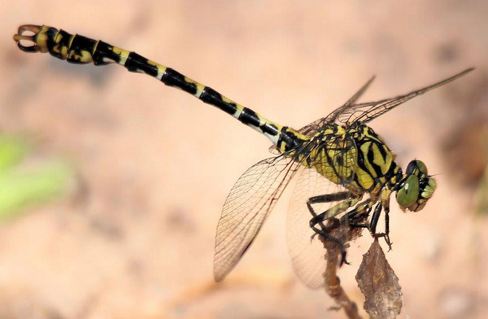
[[[467,69],[407,94],[357,103],[373,76],[344,105],[295,130],[268,120],[172,68],[101,40],[32,24],[20,26],[14,40],[24,52],[48,52],[78,64],[115,63],[130,72],[150,75],[217,107],[267,137],[273,144],[270,150],[274,155],[247,169],[225,200],[217,226],[214,277],[222,281],[241,260],[296,175],[286,221],[287,243],[295,272],[311,288],[325,284],[324,247],[316,236],[336,244],[341,265],[347,263],[346,240],[335,236],[333,229],[337,223],[348,229],[366,228],[373,237],[383,237],[391,248],[388,215],[391,195],[395,193],[402,210],[420,211],[436,189],[436,181],[428,174],[425,163],[412,160],[403,171],[395,163],[396,155],[368,123],[473,70]],[[385,227],[380,232],[377,225],[381,216]]]

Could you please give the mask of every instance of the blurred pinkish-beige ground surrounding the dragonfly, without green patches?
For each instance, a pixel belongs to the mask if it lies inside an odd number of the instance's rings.
[[[242,262],[213,283],[221,207],[269,156],[265,138],[149,76],[22,53],[11,37],[25,23],[137,51],[295,128],[373,74],[363,101],[476,67],[371,126],[402,167],[418,158],[439,174],[421,212],[392,199],[386,258],[401,318],[486,318],[488,217],[475,196],[485,196],[488,4],[344,2],[1,1],[1,130],[69,160],[80,187],[0,224],[0,318],[343,318],[293,274],[289,191]],[[370,242],[365,232],[340,270],[360,307],[354,275]]]

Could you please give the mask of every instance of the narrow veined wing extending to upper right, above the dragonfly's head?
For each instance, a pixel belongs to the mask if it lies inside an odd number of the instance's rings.
[[[339,114],[336,115],[337,120],[340,123],[352,123],[352,122],[362,122],[368,123],[375,119],[376,117],[392,110],[393,108],[407,102],[408,100],[414,98],[415,96],[424,94],[430,90],[438,88],[444,84],[447,84],[460,76],[467,74],[468,72],[472,71],[473,69],[467,69],[457,75],[451,76],[445,80],[440,82],[434,83],[429,85],[425,88],[420,90],[416,90],[410,92],[405,95],[399,95],[393,98],[376,101],[376,102],[368,102],[368,103],[361,103],[356,105],[350,105],[349,107],[342,110]]]

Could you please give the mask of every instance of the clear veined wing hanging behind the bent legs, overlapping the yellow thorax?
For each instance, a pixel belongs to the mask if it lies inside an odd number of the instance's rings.
[[[348,140],[347,138],[343,142],[344,146],[350,145],[350,143],[352,143],[352,139]],[[348,175],[347,172],[354,171],[357,154],[355,151],[346,151],[346,148],[337,148],[335,144],[330,141],[329,145],[326,146],[329,151],[325,152],[323,157],[330,158],[316,158],[313,161],[334,163],[335,172]],[[333,174],[331,170],[325,169],[325,172],[327,171],[329,175],[325,173],[326,176]],[[340,183],[343,185],[350,183],[353,178],[354,174],[350,174],[346,180]],[[311,239],[314,234],[314,231],[309,225],[312,215],[306,203],[312,196],[349,192],[341,184],[331,182],[315,168],[309,169],[304,167],[300,172],[291,196],[286,219],[286,242],[295,273],[310,288],[318,288],[325,283],[323,273],[326,266],[326,251],[324,244],[322,244],[318,237]],[[320,214],[338,203],[339,201],[314,204],[313,208],[317,214]]]

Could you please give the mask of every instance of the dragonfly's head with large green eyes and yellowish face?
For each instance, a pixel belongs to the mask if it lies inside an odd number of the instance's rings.
[[[413,160],[408,163],[405,177],[397,188],[398,205],[405,211],[419,211],[426,206],[432,197],[437,184],[435,179],[427,175],[424,162]]]

